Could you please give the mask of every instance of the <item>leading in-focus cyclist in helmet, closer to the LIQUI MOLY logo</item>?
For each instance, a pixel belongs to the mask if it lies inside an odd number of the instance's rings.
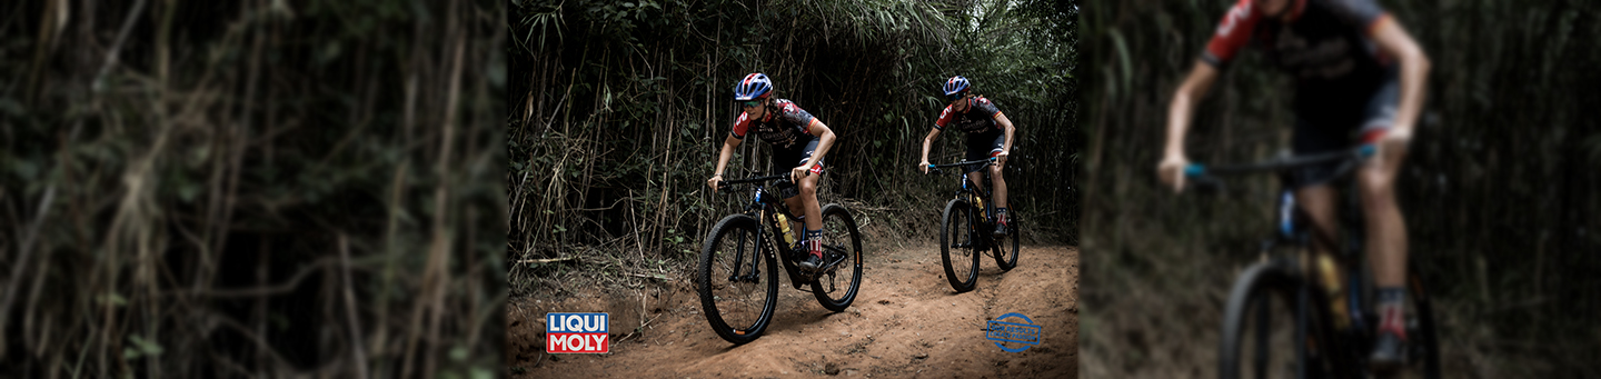
[[[772,144],[773,171],[789,171],[791,182],[800,187],[800,193],[786,193],[788,198],[784,198],[789,213],[797,214],[796,217],[805,225],[800,245],[809,254],[805,261],[800,261],[800,269],[817,270],[823,265],[823,216],[817,205],[817,181],[823,174],[823,157],[828,155],[828,147],[834,146],[834,131],[792,101],[773,99],[772,94],[773,82],[760,72],[744,75],[733,86],[733,99],[740,102],[744,114],[740,114],[733,131],[722,141],[716,174],[706,179],[706,186],[711,186],[712,190],[717,189],[728,157],[733,155],[733,149],[744,141],[746,134],[754,133]]]

